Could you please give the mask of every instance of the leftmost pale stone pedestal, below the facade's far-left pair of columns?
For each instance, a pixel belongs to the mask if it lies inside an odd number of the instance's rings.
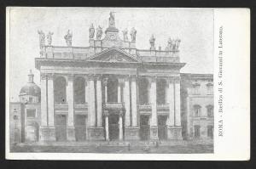
[[[39,128],[39,141],[56,141],[55,127],[40,127]]]

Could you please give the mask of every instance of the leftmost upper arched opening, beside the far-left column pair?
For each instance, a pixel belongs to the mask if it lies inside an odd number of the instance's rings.
[[[55,78],[55,81],[54,81],[55,104],[67,103],[66,87],[67,87],[67,82],[64,77],[58,76]]]

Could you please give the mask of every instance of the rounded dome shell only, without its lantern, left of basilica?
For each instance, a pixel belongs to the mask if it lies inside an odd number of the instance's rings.
[[[28,82],[24,87],[20,89],[20,95],[38,96],[41,95],[41,89],[34,82]]]

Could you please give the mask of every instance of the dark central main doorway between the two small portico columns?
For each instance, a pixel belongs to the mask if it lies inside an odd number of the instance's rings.
[[[119,139],[119,115],[109,115],[109,139]]]

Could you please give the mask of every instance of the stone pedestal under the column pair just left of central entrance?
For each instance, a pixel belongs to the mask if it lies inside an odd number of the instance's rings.
[[[88,127],[88,140],[105,140],[103,127]]]

